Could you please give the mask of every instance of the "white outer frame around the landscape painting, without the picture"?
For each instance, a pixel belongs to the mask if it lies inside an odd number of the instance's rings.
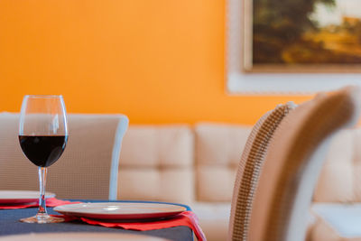
[[[347,85],[361,87],[361,73],[357,70],[275,70],[266,66],[263,70],[245,70],[245,17],[249,0],[227,0],[225,40],[225,91],[230,96],[279,96],[312,95],[319,91],[331,91]],[[249,2],[248,2],[249,3]],[[273,69],[275,68],[275,69]],[[352,69],[352,68],[351,68]]]

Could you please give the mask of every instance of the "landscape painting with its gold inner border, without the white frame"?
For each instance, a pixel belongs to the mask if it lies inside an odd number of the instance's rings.
[[[245,70],[361,71],[361,0],[244,0]]]

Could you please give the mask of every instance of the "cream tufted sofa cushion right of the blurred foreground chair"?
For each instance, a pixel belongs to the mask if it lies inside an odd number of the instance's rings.
[[[361,129],[347,129],[332,140],[314,194],[316,202],[361,201]]]

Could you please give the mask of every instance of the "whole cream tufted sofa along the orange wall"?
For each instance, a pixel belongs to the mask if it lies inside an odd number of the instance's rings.
[[[251,128],[210,123],[130,125],[120,155],[117,198],[189,204],[208,240],[226,240],[236,166]],[[315,202],[361,200],[361,185],[356,185],[361,183],[360,145],[358,129],[334,138]],[[314,232],[322,240],[318,227],[310,228],[310,236]]]

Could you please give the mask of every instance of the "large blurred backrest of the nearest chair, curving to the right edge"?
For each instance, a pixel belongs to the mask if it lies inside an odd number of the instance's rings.
[[[320,94],[275,130],[251,213],[249,240],[304,240],[308,209],[331,136],[356,124],[360,88]]]

